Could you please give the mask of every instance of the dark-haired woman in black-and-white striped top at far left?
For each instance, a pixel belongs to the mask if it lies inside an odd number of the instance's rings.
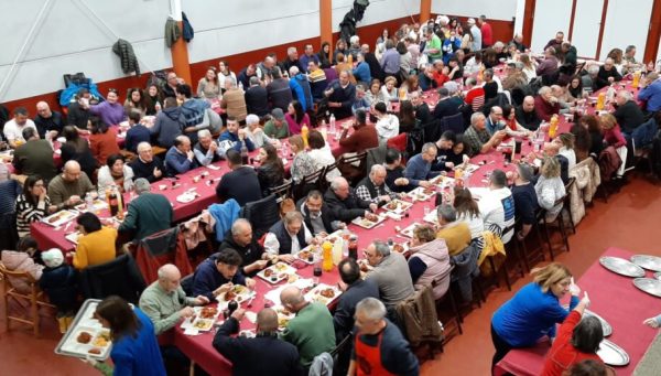
[[[19,237],[30,235],[30,224],[39,222],[55,212],[46,194],[44,180],[40,175],[30,175],[23,183],[23,193],[17,197],[17,230]]]

